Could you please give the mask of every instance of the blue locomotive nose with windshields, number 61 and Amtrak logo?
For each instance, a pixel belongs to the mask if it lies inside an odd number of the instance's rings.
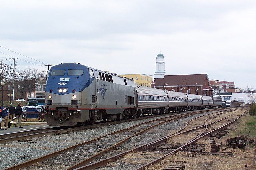
[[[51,68],[45,91],[64,95],[80,92],[89,85],[90,75],[86,66],[75,63],[66,63]]]

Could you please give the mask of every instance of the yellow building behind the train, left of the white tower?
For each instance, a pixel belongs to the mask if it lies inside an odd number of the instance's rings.
[[[122,77],[127,77],[130,79],[133,79],[137,85],[145,86],[145,87],[150,87],[150,83],[152,82],[152,75],[148,74],[122,74],[118,75]]]

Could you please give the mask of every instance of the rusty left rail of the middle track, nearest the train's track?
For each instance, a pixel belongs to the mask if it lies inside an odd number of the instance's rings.
[[[223,109],[223,108],[222,108],[222,109]],[[224,108],[224,109],[225,109],[225,108]],[[121,129],[121,130],[118,130],[118,131],[115,131],[115,132],[112,132],[112,133],[109,133],[109,134],[106,134],[106,135],[103,135],[103,136],[94,138],[94,139],[92,139],[92,140],[88,140],[88,141],[85,141],[85,142],[82,142],[82,143],[79,143],[79,144],[75,144],[75,145],[72,145],[72,146],[70,146],[70,147],[61,149],[61,150],[59,150],[59,151],[55,151],[55,152],[52,152],[52,153],[43,155],[43,156],[38,157],[38,158],[35,158],[35,159],[28,160],[28,161],[26,161],[26,162],[23,162],[23,163],[20,163],[20,164],[17,164],[17,165],[10,166],[10,167],[8,167],[8,168],[5,168],[5,170],[7,170],[7,169],[20,169],[20,168],[22,168],[22,167],[29,166],[29,165],[31,165],[31,164],[33,164],[33,163],[41,162],[41,161],[43,161],[43,160],[45,160],[45,159],[52,158],[52,157],[54,157],[54,156],[56,156],[56,155],[58,155],[58,154],[60,154],[60,153],[62,153],[62,152],[64,152],[64,151],[72,150],[72,149],[74,149],[74,148],[76,148],[76,147],[78,147],[78,146],[82,146],[82,145],[84,145],[84,144],[92,143],[92,142],[94,142],[94,141],[96,141],[96,140],[99,140],[100,138],[106,137],[106,136],[108,136],[108,135],[117,134],[117,133],[123,132],[123,131],[125,131],[125,130],[127,130],[127,129],[131,129],[131,128],[138,127],[138,126],[140,126],[140,125],[142,125],[142,124],[146,124],[146,123],[149,123],[149,122],[154,122],[154,121],[156,121],[156,120],[166,119],[166,118],[174,117],[174,116],[180,116],[180,115],[181,115],[181,116],[190,116],[190,115],[195,115],[195,114],[198,114],[198,113],[204,113],[204,112],[208,112],[208,111],[209,111],[209,110],[203,110],[203,111],[192,112],[192,113],[189,113],[189,114],[188,114],[188,113],[175,114],[175,115],[170,115],[170,116],[167,116],[167,117],[162,117],[162,118],[157,118],[157,119],[154,119],[154,120],[150,120],[150,121],[148,121],[148,122],[143,122],[143,123],[140,123],[140,124],[131,126],[131,127],[129,127],[129,128]],[[213,111],[215,111],[215,110],[213,110]],[[211,113],[211,114],[213,114],[213,113]],[[163,116],[164,116],[164,115],[163,115]],[[181,117],[181,116],[180,116],[180,117]],[[175,117],[175,118],[177,118],[177,117]],[[179,117],[178,117],[178,118],[179,118]],[[137,120],[138,120],[138,119],[137,119]],[[167,120],[167,121],[171,121],[171,119],[169,119],[169,120]],[[93,126],[93,125],[90,125],[90,127],[91,127],[91,126]],[[71,128],[71,129],[72,129],[72,128]],[[65,129],[65,130],[67,130],[67,129]],[[68,131],[68,130],[67,130],[67,131]]]

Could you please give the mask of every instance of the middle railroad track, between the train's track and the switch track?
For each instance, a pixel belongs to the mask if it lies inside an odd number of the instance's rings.
[[[219,109],[218,109],[219,110]],[[223,109],[222,109],[223,110]],[[224,109],[225,110],[225,109]],[[184,118],[184,117],[188,117],[190,115],[195,115],[195,114],[199,114],[199,113],[204,113],[204,112],[209,112],[209,111],[217,111],[217,110],[203,110],[203,111],[197,111],[197,112],[193,112],[193,113],[183,113],[183,114],[177,114],[177,115],[171,115],[171,116],[167,116],[167,117],[164,117],[164,118],[158,118],[158,119],[155,119],[155,120],[151,120],[151,121],[148,121],[148,122],[144,122],[144,123],[140,123],[140,124],[137,124],[137,125],[134,125],[132,127],[129,127],[129,128],[126,128],[126,129],[122,129],[122,130],[119,130],[119,131],[115,131],[113,133],[109,133],[107,135],[103,135],[101,137],[98,137],[98,138],[95,138],[95,139],[92,139],[92,140],[89,140],[89,141],[85,141],[85,142],[82,142],[80,144],[76,144],[76,145],[73,145],[73,146],[70,146],[70,147],[67,147],[67,148],[64,148],[62,150],[59,150],[59,151],[56,151],[56,152],[52,152],[50,154],[47,154],[47,155],[44,155],[44,156],[41,156],[39,158],[36,158],[36,159],[31,159],[29,161],[26,161],[26,162],[23,162],[21,164],[18,164],[18,165],[15,165],[15,166],[11,166],[11,167],[8,167],[6,169],[19,169],[19,168],[22,168],[22,167],[26,167],[26,166],[29,166],[33,163],[36,163],[36,162],[41,162],[45,159],[49,159],[49,158],[52,158],[56,155],[59,155],[60,153],[63,153],[65,151],[69,151],[69,150],[72,150],[72,149],[75,149],[79,146],[83,146],[85,144],[90,144],[92,142],[95,142],[95,141],[98,141],[104,137],[107,137],[107,136],[110,136],[110,135],[114,135],[114,134],[120,134],[120,133],[125,133],[124,135],[129,135],[132,133],[132,135],[130,135],[129,137],[123,139],[122,141],[112,145],[111,147],[108,147],[107,149],[104,149],[103,151],[95,154],[92,158],[90,159],[87,159],[85,162],[88,162],[90,160],[93,160],[93,159],[96,159],[98,158],[100,155],[106,153],[106,152],[109,152],[110,150],[114,149],[115,147],[117,147],[118,145],[124,143],[125,141],[127,141],[128,139],[130,139],[131,137],[135,136],[135,135],[139,135],[149,129],[152,129],[153,127],[156,127],[162,123],[165,123],[165,122],[170,122],[170,121],[175,121],[175,120],[178,120],[178,119],[181,119],[181,118]],[[211,113],[212,114],[212,113]],[[147,127],[149,126],[150,127]],[[141,130],[141,127],[140,126],[146,126],[147,128],[142,128]],[[136,129],[137,128],[137,129]],[[128,131],[127,132],[127,129],[128,130],[131,130],[131,129],[136,129],[135,131]]]

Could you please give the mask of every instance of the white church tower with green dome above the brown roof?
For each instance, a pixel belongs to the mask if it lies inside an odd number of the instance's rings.
[[[164,78],[165,76],[165,67],[164,67],[164,55],[159,53],[156,56],[156,72],[155,78]]]

